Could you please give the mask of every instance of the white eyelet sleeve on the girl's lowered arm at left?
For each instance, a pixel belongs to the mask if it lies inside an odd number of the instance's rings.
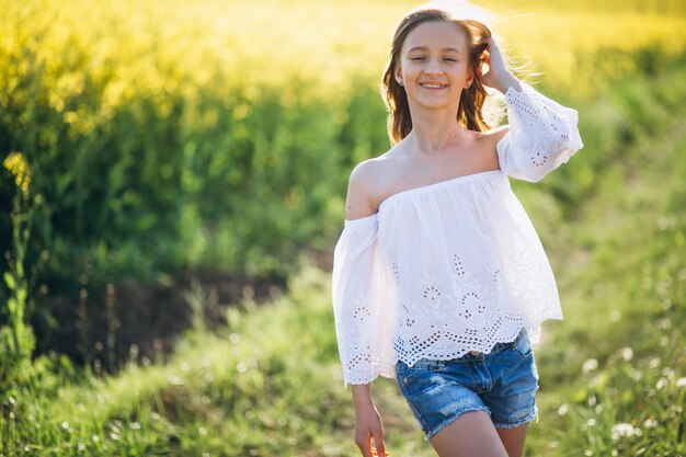
[[[377,215],[346,220],[333,258],[332,298],[345,384],[395,376],[396,322],[378,245]]]

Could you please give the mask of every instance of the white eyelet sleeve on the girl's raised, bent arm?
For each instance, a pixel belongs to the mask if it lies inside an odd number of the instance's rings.
[[[538,182],[583,147],[579,113],[521,85],[505,94],[510,132],[498,142],[498,158],[507,175]]]

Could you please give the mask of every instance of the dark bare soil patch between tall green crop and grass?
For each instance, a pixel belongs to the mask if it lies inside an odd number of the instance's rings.
[[[184,274],[168,284],[122,279],[79,297],[49,297],[39,309],[53,324],[34,325],[39,353],[55,351],[75,363],[114,370],[129,361],[164,361],[179,335],[198,321],[225,324],[227,308],[250,299],[265,302],[284,292],[277,277],[218,272]]]

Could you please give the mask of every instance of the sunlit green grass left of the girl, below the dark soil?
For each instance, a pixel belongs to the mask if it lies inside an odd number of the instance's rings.
[[[41,377],[64,374],[38,364],[9,392],[4,455],[25,446],[37,456],[267,456],[325,447],[320,424],[351,423],[336,408],[346,395],[332,379],[327,287],[321,273],[304,272],[287,299],[232,310],[221,334],[188,334],[165,365],[46,389]]]

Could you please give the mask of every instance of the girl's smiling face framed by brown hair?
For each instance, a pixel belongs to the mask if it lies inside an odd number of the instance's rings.
[[[411,111],[457,112],[462,89],[471,83],[467,32],[447,21],[418,25],[402,44],[396,79],[404,87]]]

